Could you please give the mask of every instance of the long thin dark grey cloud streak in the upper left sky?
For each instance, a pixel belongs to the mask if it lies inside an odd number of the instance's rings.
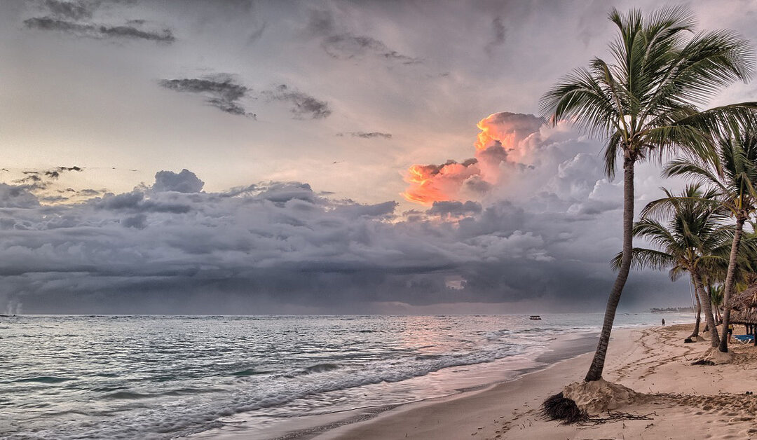
[[[161,31],[140,30],[132,26],[105,26],[94,23],[76,23],[54,17],[33,17],[23,20],[23,23],[30,29],[59,31],[70,33],[74,36],[95,39],[145,39],[167,43],[176,40],[170,29],[164,29]]]

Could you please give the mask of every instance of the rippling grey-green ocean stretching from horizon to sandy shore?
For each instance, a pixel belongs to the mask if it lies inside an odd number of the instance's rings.
[[[554,342],[596,344],[601,314],[541,317],[0,317],[0,437],[277,438],[514,379],[559,360]],[[662,317],[693,320],[615,322]]]

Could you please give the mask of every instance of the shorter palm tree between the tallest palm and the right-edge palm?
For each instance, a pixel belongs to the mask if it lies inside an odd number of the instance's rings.
[[[634,223],[634,236],[643,237],[660,250],[634,248],[633,261],[639,268],[668,269],[672,280],[684,272],[690,274],[704,308],[712,346],[717,347],[720,339],[704,276],[725,261],[724,254],[733,235],[723,226],[725,216],[714,202],[717,195],[714,190],[702,192],[699,185],[690,185],[678,196],[667,189],[663,191],[667,197],[647,204],[641,220]],[[662,218],[667,225],[660,223]],[[614,267],[620,267],[622,256],[620,253],[612,260]]]

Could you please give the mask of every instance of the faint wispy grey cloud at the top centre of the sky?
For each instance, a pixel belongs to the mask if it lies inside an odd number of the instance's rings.
[[[421,61],[398,51],[370,36],[355,35],[340,30],[331,11],[310,11],[306,34],[321,39],[321,47],[332,58],[350,60],[371,54],[400,64],[418,64]]]

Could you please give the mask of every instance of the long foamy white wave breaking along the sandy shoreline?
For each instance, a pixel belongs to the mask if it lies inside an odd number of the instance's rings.
[[[182,410],[173,407],[171,413],[156,410],[131,413],[129,417],[117,417],[93,423],[86,427],[86,431],[92,438],[175,438],[216,427],[220,418],[229,417],[235,413],[279,407],[301,398],[363,385],[400,382],[448,367],[482,364],[503,357],[511,357],[521,354],[524,350],[522,346],[500,345],[488,350],[463,354],[397,357],[360,366],[362,369],[358,366],[340,364],[315,364],[273,376],[249,376],[246,379],[250,382],[246,383],[245,387],[230,392],[230,398],[194,401],[192,405],[183,406]],[[198,390],[187,391],[186,389],[175,390],[152,395],[116,392],[107,397],[136,400],[165,395],[192,394]],[[229,391],[226,390],[226,392]],[[63,428],[57,426],[51,433],[57,434],[55,438],[61,438],[60,432],[76,432],[82,429],[82,426]],[[43,431],[38,433],[46,434]]]

